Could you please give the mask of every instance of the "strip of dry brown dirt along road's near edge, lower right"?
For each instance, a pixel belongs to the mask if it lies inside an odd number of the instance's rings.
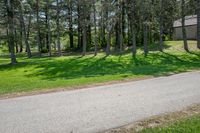
[[[116,129],[111,129],[102,133],[136,133],[145,128],[153,128],[153,127],[167,125],[172,122],[176,122],[178,120],[189,118],[198,114],[200,114],[200,104],[187,107],[182,111],[163,114],[160,116],[153,116],[146,120],[141,120],[141,121],[138,121],[126,126],[122,126]]]

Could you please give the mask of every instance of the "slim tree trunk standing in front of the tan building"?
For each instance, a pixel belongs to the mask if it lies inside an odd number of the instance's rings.
[[[185,0],[181,2],[181,17],[182,17],[182,34],[183,34],[183,42],[185,51],[189,52],[188,43],[187,43],[187,33],[185,28]]]

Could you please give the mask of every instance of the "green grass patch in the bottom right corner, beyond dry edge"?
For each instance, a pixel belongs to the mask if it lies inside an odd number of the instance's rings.
[[[139,133],[200,133],[200,115],[164,127],[144,129]]]

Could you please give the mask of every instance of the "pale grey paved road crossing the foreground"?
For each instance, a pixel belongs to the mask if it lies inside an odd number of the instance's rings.
[[[200,72],[0,100],[0,133],[94,133],[200,103]]]

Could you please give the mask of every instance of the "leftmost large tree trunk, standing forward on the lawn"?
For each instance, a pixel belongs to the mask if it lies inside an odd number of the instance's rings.
[[[15,56],[15,42],[14,42],[14,9],[13,9],[13,0],[6,0],[6,10],[8,15],[8,45],[10,49],[10,58],[11,64],[16,64]]]

